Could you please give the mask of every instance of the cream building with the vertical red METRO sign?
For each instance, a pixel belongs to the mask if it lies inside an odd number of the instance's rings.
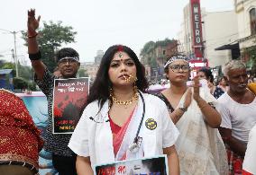
[[[201,61],[202,66],[224,66],[232,59],[230,50],[215,50],[238,39],[236,15],[233,11],[206,12],[200,9],[200,0],[190,0],[183,10],[184,21],[178,32],[179,48]]]

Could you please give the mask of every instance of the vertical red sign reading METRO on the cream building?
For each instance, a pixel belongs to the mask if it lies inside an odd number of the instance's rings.
[[[191,22],[193,26],[193,48],[196,57],[203,57],[202,52],[202,22],[201,22],[201,10],[200,0],[191,0]]]

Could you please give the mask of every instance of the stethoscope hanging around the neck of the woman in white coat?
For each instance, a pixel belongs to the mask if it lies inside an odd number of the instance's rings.
[[[141,131],[141,128],[142,128],[142,123],[143,123],[143,119],[144,119],[144,116],[145,116],[145,101],[144,101],[144,98],[142,96],[142,92],[139,92],[140,93],[140,96],[142,98],[142,103],[143,103],[143,112],[142,112],[142,118],[141,118],[141,121],[140,121],[140,125],[137,129],[137,132],[136,132],[136,136],[134,137],[133,139],[133,144],[130,144],[129,145],[129,150],[130,152],[132,153],[136,153],[139,151],[140,147],[141,147],[141,144],[142,144],[142,137],[139,136],[140,134],[140,131]],[[91,120],[93,120],[94,122],[96,123],[105,123],[105,122],[109,122],[109,119],[107,118],[106,120],[103,119],[103,120],[96,120],[95,118],[93,117],[89,117]]]

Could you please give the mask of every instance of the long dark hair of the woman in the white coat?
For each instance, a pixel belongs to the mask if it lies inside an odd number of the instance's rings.
[[[114,54],[120,49],[121,51],[127,53],[135,63],[136,70],[137,70],[136,76],[138,79],[136,81],[136,85],[138,89],[142,92],[145,92],[146,89],[148,88],[148,82],[147,82],[147,79],[145,78],[144,68],[141,62],[139,61],[139,58],[133,52],[133,50],[126,46],[114,45],[110,48],[107,48],[104,56],[101,59],[100,66],[96,74],[96,79],[92,84],[92,86],[90,87],[90,92],[87,98],[87,104],[89,104],[92,101],[98,100],[98,104],[101,109],[105,101],[108,99],[109,90],[112,87],[112,83],[110,82],[110,79],[108,76],[108,69],[114,57]]]

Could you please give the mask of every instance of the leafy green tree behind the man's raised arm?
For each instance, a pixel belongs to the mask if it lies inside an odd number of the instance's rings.
[[[54,53],[59,50],[62,44],[75,42],[76,34],[77,31],[73,31],[71,26],[62,26],[62,22],[43,22],[43,27],[39,29],[38,44],[41,50],[41,60],[50,72],[53,72],[57,66]],[[25,41],[27,40],[26,36],[26,31],[23,31]]]

